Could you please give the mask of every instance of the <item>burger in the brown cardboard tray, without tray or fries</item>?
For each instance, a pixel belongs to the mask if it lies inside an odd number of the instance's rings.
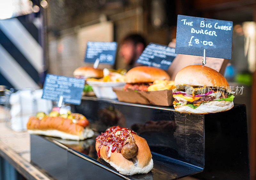
[[[124,91],[148,91],[155,80],[170,80],[170,76],[162,69],[152,66],[137,66],[125,75]]]

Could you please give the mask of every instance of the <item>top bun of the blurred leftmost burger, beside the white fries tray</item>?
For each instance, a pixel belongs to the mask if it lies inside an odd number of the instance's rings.
[[[102,78],[103,70],[98,68],[95,69],[91,66],[81,66],[74,71],[73,75],[84,76],[86,78]]]

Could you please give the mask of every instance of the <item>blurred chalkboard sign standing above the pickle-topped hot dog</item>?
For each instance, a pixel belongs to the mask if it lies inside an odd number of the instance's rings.
[[[60,96],[63,96],[64,102],[79,105],[84,83],[84,79],[47,74],[42,98],[59,101]]]

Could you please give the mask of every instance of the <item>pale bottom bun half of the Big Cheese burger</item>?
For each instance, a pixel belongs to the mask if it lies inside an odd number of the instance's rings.
[[[193,109],[189,106],[183,105],[173,105],[176,111],[182,113],[192,113],[192,114],[208,114],[216,113],[221,111],[227,111],[232,109],[234,106],[233,101],[211,101],[204,104],[200,104],[196,109]]]

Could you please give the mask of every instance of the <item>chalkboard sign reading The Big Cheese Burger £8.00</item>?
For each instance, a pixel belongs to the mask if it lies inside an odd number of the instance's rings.
[[[231,59],[233,22],[178,15],[175,53]]]

